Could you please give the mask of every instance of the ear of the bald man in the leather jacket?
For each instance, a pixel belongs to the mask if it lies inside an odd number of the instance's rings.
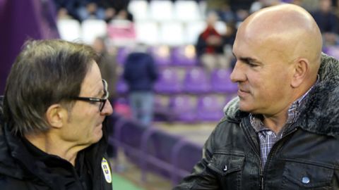
[[[309,72],[309,61],[306,58],[299,58],[295,61],[293,71],[291,86],[297,88],[307,77],[307,73]]]

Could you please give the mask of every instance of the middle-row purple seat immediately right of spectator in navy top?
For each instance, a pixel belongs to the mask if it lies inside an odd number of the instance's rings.
[[[182,91],[182,81],[175,68],[162,68],[160,79],[155,83],[155,91],[163,94],[176,94]]]

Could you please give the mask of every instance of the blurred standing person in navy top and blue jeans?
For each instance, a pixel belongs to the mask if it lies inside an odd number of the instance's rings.
[[[149,126],[153,121],[153,87],[158,72],[146,47],[139,44],[124,63],[124,80],[129,85],[129,103],[133,118]]]

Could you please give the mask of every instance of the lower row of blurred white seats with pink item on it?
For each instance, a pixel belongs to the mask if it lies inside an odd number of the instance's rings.
[[[57,27],[61,39],[87,44],[92,44],[95,37],[108,36],[112,39],[112,44],[118,46],[131,42],[152,46],[158,44],[179,46],[195,44],[206,23],[204,21],[156,23],[150,20],[131,23],[128,20],[113,20],[107,25],[103,20],[84,20],[83,23],[79,23],[78,20],[65,19],[58,20]],[[218,21],[216,29],[220,34],[225,33],[225,23]]]

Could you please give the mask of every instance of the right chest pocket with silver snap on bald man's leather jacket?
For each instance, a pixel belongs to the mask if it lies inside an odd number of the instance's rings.
[[[280,189],[333,189],[331,187],[333,173],[333,168],[324,165],[287,161]]]

